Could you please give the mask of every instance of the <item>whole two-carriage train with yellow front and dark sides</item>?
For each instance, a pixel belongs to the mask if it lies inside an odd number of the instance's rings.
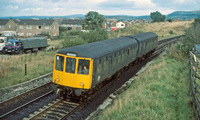
[[[147,32],[59,50],[53,82],[62,95],[81,96],[135,60],[151,54],[158,36]]]

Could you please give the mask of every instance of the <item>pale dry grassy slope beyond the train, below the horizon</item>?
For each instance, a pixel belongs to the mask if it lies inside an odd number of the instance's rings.
[[[171,36],[182,35],[185,30],[191,26],[192,21],[179,21],[179,22],[159,22],[150,24],[139,24],[126,27],[109,34],[109,38],[115,38],[125,35],[138,34],[141,32],[154,32],[158,35],[159,39],[164,39]]]

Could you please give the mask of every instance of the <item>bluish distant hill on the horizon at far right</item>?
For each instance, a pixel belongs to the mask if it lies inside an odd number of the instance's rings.
[[[166,17],[180,20],[195,19],[200,17],[200,11],[175,11],[171,14],[168,14]]]

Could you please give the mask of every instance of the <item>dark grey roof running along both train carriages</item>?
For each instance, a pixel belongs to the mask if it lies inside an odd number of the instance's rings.
[[[148,36],[155,36],[155,33],[142,33],[131,36],[124,36],[119,38],[113,38],[74,47],[64,48],[57,53],[64,55],[74,55],[77,57],[86,58],[99,58],[115,51],[124,49],[128,46],[137,44],[135,38],[139,40],[145,40]]]

